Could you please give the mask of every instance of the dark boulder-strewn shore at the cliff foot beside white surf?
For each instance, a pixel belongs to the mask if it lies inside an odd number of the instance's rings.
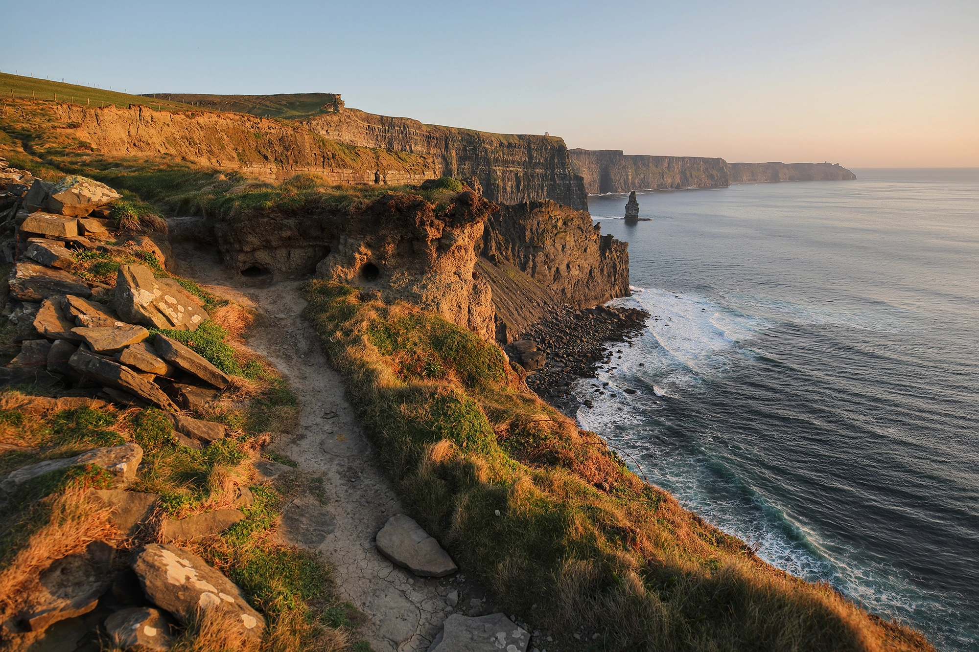
[[[574,418],[582,405],[591,405],[575,397],[571,386],[580,378],[594,378],[600,366],[613,364],[622,351],[606,347],[607,343],[631,347],[630,340],[642,333],[648,317],[639,308],[566,305],[537,322],[506,352],[531,372],[527,386],[537,396]]]

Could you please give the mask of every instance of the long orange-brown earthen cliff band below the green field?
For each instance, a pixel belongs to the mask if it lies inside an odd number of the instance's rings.
[[[50,112],[62,134],[110,157],[169,156],[271,180],[300,172],[320,174],[331,183],[418,183],[439,176],[434,157],[341,145],[296,122],[138,105],[43,104],[39,110]]]

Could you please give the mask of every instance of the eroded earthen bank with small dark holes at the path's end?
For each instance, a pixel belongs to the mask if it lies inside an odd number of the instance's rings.
[[[461,193],[446,209],[392,193],[365,210],[256,212],[214,228],[226,264],[238,271],[320,277],[434,310],[481,337],[493,336],[489,284],[476,242],[496,206]]]

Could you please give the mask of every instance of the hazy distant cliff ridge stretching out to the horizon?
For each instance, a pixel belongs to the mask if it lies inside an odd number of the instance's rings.
[[[589,195],[666,188],[723,188],[760,181],[856,179],[839,164],[727,163],[698,157],[626,155],[621,150],[568,150],[575,172]]]

